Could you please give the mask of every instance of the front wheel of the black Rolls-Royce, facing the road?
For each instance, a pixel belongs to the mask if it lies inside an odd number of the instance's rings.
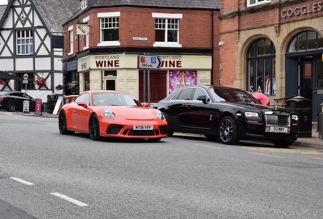
[[[224,144],[238,144],[238,126],[232,117],[227,116],[221,120],[219,136]]]

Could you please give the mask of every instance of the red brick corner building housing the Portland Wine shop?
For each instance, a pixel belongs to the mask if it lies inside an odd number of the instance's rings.
[[[219,84],[220,1],[81,4],[63,24],[66,82],[79,83],[72,93],[115,89],[147,101],[148,70],[138,68],[139,54],[162,61],[160,69],[149,70],[151,102],[176,90],[181,79],[185,85]]]

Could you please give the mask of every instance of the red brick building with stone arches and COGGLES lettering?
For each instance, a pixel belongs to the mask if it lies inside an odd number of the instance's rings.
[[[313,121],[323,94],[323,3],[221,1],[220,84],[269,96],[273,105],[303,96]],[[277,100],[277,101],[276,101]]]

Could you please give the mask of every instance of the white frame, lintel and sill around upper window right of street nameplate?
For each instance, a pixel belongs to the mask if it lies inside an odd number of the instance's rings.
[[[153,18],[166,19],[166,31],[165,31],[165,42],[155,42],[154,47],[182,47],[179,44],[179,19],[183,18],[182,14],[166,14],[166,13],[152,13]],[[168,19],[178,19],[178,30],[177,30],[177,42],[166,42],[167,41],[167,23]]]

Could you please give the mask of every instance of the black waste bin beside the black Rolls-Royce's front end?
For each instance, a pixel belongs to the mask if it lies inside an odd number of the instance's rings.
[[[293,97],[286,100],[286,108],[298,113],[298,137],[312,137],[312,101],[301,96]]]

